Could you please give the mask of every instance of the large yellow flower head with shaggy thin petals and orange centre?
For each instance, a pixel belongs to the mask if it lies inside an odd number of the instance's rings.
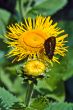
[[[9,32],[6,34],[7,43],[12,50],[9,56],[15,56],[14,60],[20,61],[26,57],[30,59],[42,59],[48,62],[58,62],[56,55],[64,56],[67,51],[65,46],[65,38],[67,34],[63,34],[64,30],[57,27],[57,23],[53,24],[50,17],[37,16],[35,19],[30,17],[24,19],[22,23],[16,23],[9,26]],[[45,53],[45,41],[54,36],[56,39],[53,58],[49,59]],[[48,50],[49,47],[47,47]]]

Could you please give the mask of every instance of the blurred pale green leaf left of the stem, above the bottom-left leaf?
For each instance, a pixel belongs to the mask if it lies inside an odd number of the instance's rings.
[[[9,91],[15,94],[25,93],[25,88],[23,88],[23,85],[22,85],[23,79],[20,76],[17,76],[17,75],[15,76],[15,74],[11,73],[11,72],[16,73],[15,67],[14,67],[15,71],[14,70],[12,71],[12,68],[10,68],[10,70],[8,72],[6,70],[3,70],[3,68],[0,68],[0,72],[1,72],[0,81],[5,85],[6,88],[8,88]]]

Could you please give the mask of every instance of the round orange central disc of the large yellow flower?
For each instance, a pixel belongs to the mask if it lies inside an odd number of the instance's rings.
[[[35,32],[35,31],[27,31],[24,32],[20,38],[20,41],[23,41],[27,46],[37,48],[41,47],[44,43],[43,33]]]

